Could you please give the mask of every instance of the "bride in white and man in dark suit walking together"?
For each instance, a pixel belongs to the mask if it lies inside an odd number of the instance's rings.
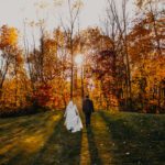
[[[90,117],[94,112],[92,100],[89,99],[89,96],[86,96],[82,101],[82,111],[86,119],[86,128],[90,125]],[[65,125],[66,129],[74,132],[80,131],[82,129],[81,119],[78,112],[76,105],[73,101],[69,101],[66,111],[65,111]]]

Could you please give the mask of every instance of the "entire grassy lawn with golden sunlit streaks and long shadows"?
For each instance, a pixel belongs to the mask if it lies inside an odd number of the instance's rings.
[[[165,116],[98,111],[77,133],[65,129],[63,116],[0,119],[0,165],[165,164]]]

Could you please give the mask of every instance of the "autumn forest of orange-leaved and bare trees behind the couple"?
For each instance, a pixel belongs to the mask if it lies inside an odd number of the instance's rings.
[[[0,116],[61,110],[86,95],[96,110],[165,113],[163,1],[134,0],[130,20],[127,0],[107,0],[101,26],[85,30],[77,25],[82,2],[67,2],[68,24],[53,32],[44,19],[24,22],[23,35],[0,26]],[[30,43],[28,26],[40,31],[38,41],[31,34]]]

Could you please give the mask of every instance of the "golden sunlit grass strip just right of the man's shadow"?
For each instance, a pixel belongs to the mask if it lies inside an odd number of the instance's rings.
[[[92,147],[95,146],[92,163],[97,165],[111,164],[111,145],[113,142],[103,119],[98,112],[92,116],[91,128],[88,129],[88,141]]]

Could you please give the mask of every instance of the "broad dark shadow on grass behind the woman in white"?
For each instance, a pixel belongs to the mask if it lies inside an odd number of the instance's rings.
[[[64,119],[61,119],[52,136],[35,157],[33,165],[78,165],[80,147],[81,132],[68,132],[64,127]]]

